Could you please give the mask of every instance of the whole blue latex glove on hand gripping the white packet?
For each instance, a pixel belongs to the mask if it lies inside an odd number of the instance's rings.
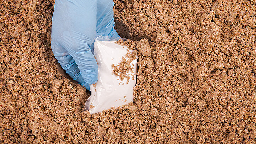
[[[114,30],[113,0],[55,0],[51,47],[69,76],[90,90],[98,80],[92,43],[100,35],[119,37]]]

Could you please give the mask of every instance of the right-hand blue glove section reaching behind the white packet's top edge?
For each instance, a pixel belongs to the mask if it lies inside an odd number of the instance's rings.
[[[96,37],[110,36],[119,37],[116,30],[114,30],[114,2],[113,0],[97,1],[97,29]]]

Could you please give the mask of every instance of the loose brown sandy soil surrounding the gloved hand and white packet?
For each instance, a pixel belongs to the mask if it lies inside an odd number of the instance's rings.
[[[0,143],[256,143],[255,0],[114,3],[142,39],[134,104],[90,115],[50,49],[54,0],[0,1]]]

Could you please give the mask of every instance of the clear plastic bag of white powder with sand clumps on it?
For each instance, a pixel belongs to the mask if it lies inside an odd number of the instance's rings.
[[[95,39],[94,55],[99,76],[96,84],[90,85],[91,96],[84,106],[91,114],[133,102],[137,56],[131,58],[133,50],[116,44],[119,39],[107,36]]]

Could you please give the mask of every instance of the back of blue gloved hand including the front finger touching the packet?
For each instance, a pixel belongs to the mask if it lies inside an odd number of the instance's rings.
[[[90,45],[96,34],[96,1],[65,2],[55,3],[52,39],[71,55],[84,81],[94,84],[98,80],[98,65]]]

